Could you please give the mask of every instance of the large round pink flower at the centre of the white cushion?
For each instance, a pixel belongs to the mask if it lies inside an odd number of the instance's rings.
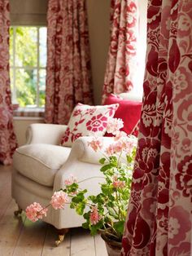
[[[86,123],[87,130],[102,131],[107,126],[107,117],[103,116],[103,114],[98,114],[94,116]]]

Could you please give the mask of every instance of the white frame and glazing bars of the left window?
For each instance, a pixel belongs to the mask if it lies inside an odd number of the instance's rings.
[[[37,66],[17,66],[15,64],[15,38],[16,38],[16,28],[17,27],[34,27],[34,28],[37,28]],[[24,25],[18,25],[18,26],[11,26],[11,28],[13,29],[13,65],[10,66],[10,70],[12,69],[13,71],[13,76],[12,76],[12,85],[13,85],[13,90],[12,90],[12,102],[13,104],[17,104],[17,99],[16,99],[16,69],[28,69],[28,70],[34,70],[34,69],[37,69],[37,85],[36,85],[36,89],[37,89],[37,98],[36,98],[36,106],[33,108],[45,108],[45,107],[40,107],[39,106],[39,83],[40,83],[40,77],[39,77],[39,73],[40,73],[40,70],[46,70],[46,67],[40,67],[40,37],[39,37],[39,29],[41,28],[46,28],[46,26],[24,26]],[[31,108],[30,106],[26,106],[24,108]]]

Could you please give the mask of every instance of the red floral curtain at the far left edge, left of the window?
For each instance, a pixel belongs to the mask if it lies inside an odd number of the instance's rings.
[[[0,162],[11,164],[16,148],[9,77],[9,1],[0,0]]]

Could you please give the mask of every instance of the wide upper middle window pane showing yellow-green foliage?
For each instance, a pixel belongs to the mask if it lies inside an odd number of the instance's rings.
[[[16,27],[15,65],[37,66],[37,28]]]

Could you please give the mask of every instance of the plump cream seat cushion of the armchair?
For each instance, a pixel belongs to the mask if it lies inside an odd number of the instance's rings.
[[[17,148],[13,158],[15,170],[41,185],[52,187],[56,172],[68,159],[71,148],[33,143]]]

